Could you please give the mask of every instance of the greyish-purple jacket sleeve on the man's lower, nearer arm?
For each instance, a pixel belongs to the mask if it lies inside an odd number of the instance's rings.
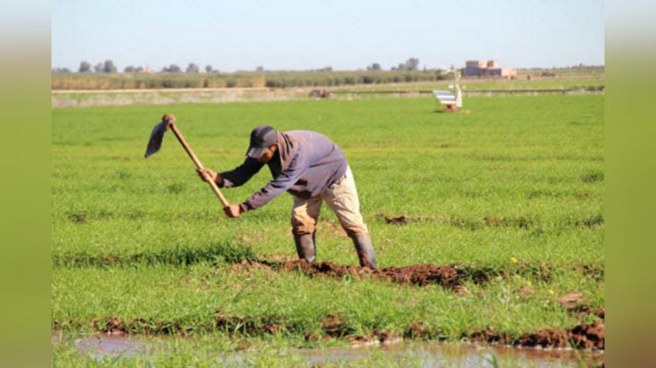
[[[243,202],[243,207],[246,210],[255,210],[260,208],[270,202],[272,199],[276,198],[278,194],[281,194],[287,189],[291,188],[298,179],[310,168],[311,160],[309,158],[304,158],[304,155],[297,155],[292,158],[289,162],[287,170],[282,172],[280,175],[269,181],[266,187],[255,192],[250,196],[246,202]]]

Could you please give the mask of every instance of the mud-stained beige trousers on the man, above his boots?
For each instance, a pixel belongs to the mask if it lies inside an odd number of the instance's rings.
[[[335,212],[348,236],[369,232],[360,214],[356,181],[353,179],[350,166],[347,166],[346,173],[342,177],[318,196],[308,199],[294,197],[294,206],[291,210],[291,226],[294,234],[314,232],[323,201]]]

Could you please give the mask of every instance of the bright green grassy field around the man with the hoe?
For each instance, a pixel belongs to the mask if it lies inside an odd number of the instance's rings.
[[[471,97],[470,114],[434,109],[432,98],[53,109],[53,333],[113,326],[170,338],[125,365],[215,365],[207,354],[247,343],[247,365],[289,366],[302,360],[278,354],[286,348],[408,336],[417,322],[424,338],[457,342],[488,327],[519,336],[598,320],[556,299],[577,292],[580,305],[604,306],[604,96]],[[296,258],[291,196],[228,219],[172,134],[144,160],[164,113],[218,171],[242,162],[256,125],[326,134],[356,177],[379,267],[458,265],[491,277],[455,292],[241,265]],[[262,170],[224,195],[242,202],[269,178]],[[400,215],[410,221],[385,220]],[[358,263],[326,206],[317,254]],[[323,339],[331,316],[344,336]],[[270,323],[281,328],[260,328]],[[57,366],[107,363],[70,344],[52,349]]]

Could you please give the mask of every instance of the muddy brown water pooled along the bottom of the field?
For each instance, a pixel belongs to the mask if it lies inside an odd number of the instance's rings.
[[[133,356],[148,352],[165,351],[165,341],[157,339],[141,340],[123,335],[100,335],[62,340],[52,337],[52,344],[71,343],[83,354],[97,358],[102,356]],[[254,354],[257,354],[255,351]],[[243,366],[244,356],[249,351],[225,353],[217,352],[216,359],[230,366]],[[500,367],[588,367],[603,366],[604,353],[590,350],[564,350],[541,348],[516,348],[512,346],[481,346],[478,344],[445,344],[443,342],[399,342],[377,346],[341,346],[321,349],[290,348],[285,354],[298,355],[308,363],[308,367],[321,366],[321,363],[360,363],[373,356],[381,356],[396,361],[403,367],[406,363],[422,367],[493,367],[496,359]]]

